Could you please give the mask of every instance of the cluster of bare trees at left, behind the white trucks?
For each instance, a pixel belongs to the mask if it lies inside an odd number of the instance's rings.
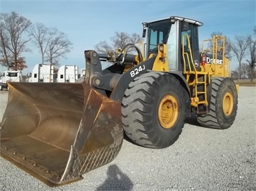
[[[44,60],[52,65],[58,65],[60,57],[66,57],[72,43],[64,32],[50,28],[43,23],[32,23],[16,12],[0,13],[0,63],[7,70],[22,70],[27,68],[22,53],[32,51],[28,42],[32,41],[41,53],[41,63]]]

